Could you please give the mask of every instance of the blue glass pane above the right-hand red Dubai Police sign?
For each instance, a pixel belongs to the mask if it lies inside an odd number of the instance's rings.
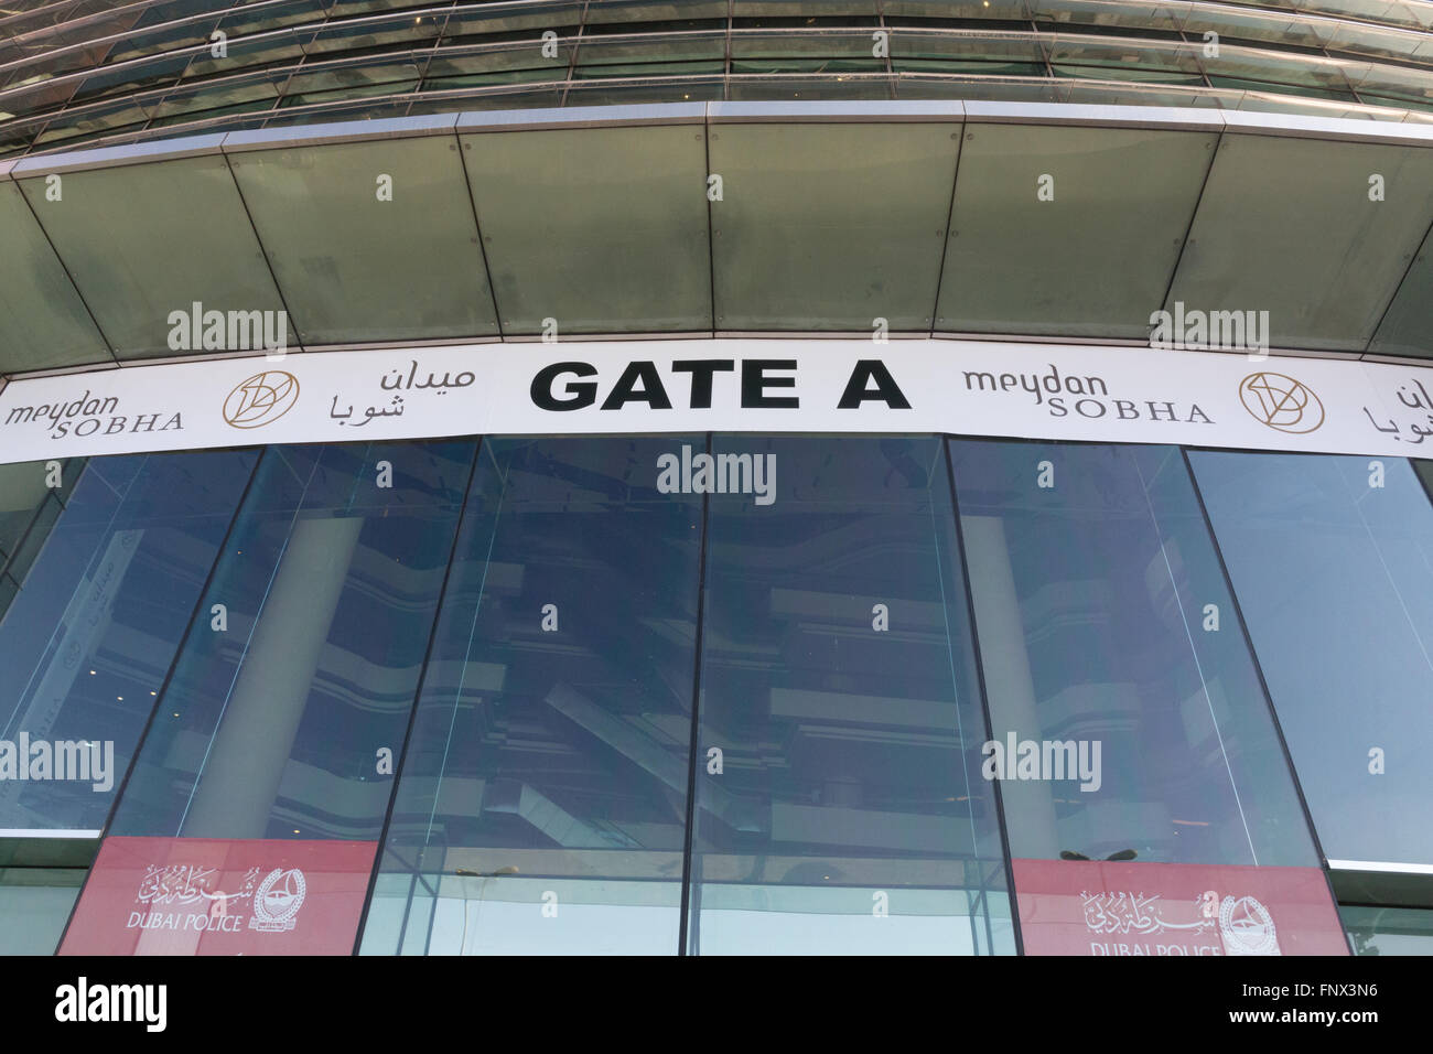
[[[1179,450],[950,449],[995,739],[1093,773],[1002,780],[1010,855],[1315,866]]]

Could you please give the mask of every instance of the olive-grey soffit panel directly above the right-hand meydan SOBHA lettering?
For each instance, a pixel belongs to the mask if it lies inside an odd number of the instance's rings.
[[[970,125],[937,330],[1148,336],[1215,132]]]

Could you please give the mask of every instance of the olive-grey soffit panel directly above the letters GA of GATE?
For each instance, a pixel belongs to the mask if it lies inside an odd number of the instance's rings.
[[[711,328],[699,125],[459,139],[506,336]]]

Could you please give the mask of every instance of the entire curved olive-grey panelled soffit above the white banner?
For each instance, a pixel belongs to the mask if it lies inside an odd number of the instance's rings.
[[[289,350],[876,318],[1144,341],[1184,304],[1267,310],[1275,351],[1433,359],[1430,224],[1433,128],[1294,115],[658,103],[235,132],[0,163],[0,373],[214,354],[172,340],[195,303],[285,311]]]

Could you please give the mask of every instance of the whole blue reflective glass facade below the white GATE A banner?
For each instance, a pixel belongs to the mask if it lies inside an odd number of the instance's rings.
[[[1427,868],[1426,467],[699,433],[11,465],[3,859],[102,835],[100,896],[146,846],[289,845],[365,955],[1009,955],[1073,862]],[[85,875],[0,870],[0,951],[52,951]],[[1416,951],[1422,908],[1343,929]]]

